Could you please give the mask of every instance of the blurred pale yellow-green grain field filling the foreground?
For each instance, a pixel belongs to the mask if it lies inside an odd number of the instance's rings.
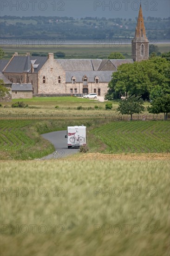
[[[0,254],[168,256],[169,168],[167,161],[1,162]]]

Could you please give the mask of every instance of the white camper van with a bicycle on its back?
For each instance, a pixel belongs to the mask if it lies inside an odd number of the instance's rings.
[[[86,127],[84,125],[68,126],[65,138],[67,138],[68,148],[86,145]]]

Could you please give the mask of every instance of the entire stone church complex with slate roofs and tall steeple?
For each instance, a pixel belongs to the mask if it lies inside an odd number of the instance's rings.
[[[111,75],[117,71],[118,66],[149,58],[149,41],[141,5],[131,45],[132,59],[127,60],[65,60],[54,59],[52,53],[48,57],[30,56],[29,53],[21,56],[15,53],[10,61],[0,60],[0,72],[3,80],[6,77],[13,84],[12,98],[30,98],[33,94],[52,96],[97,93],[98,96],[104,96]]]

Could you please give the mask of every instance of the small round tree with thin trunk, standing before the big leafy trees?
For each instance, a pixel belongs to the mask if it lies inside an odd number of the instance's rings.
[[[133,114],[139,114],[144,111],[143,103],[144,101],[141,97],[132,95],[131,97],[119,102],[117,111],[122,115],[131,115],[132,120]]]

